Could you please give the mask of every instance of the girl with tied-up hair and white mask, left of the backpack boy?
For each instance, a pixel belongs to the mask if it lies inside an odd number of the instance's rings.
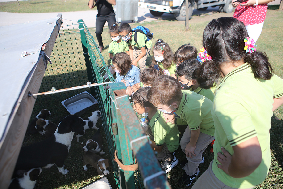
[[[111,65],[109,67],[109,71],[112,75],[115,73],[115,70],[111,69],[111,67],[113,68],[113,64],[112,64],[113,56],[118,52],[126,52],[130,56],[129,46],[125,41],[123,41],[120,38],[118,28],[119,28],[118,24],[114,23],[112,26],[110,26],[109,29],[109,33],[112,39],[112,42],[109,44],[109,48],[108,48],[109,58],[111,59]],[[104,77],[107,78],[108,75],[106,74]]]

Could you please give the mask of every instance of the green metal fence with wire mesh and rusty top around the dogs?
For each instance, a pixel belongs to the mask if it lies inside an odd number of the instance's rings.
[[[87,81],[112,81],[108,87],[100,85],[87,90],[96,95],[102,113],[117,188],[171,188],[148,143],[148,137],[142,131],[129,97],[125,94],[125,85],[115,83],[85,23],[82,20],[73,21],[62,28],[50,56],[53,64],[48,65],[39,92],[50,91],[52,87],[62,89],[85,85]],[[37,99],[47,98],[49,101],[55,97],[64,100],[83,91],[85,89],[55,96],[38,96]],[[139,169],[120,169],[113,161],[115,150],[124,165],[132,165],[137,160]]]

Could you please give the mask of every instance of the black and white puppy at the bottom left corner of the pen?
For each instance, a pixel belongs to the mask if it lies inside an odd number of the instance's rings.
[[[12,179],[9,189],[33,189],[35,187],[38,175],[40,175],[41,171],[41,167],[33,168],[23,175]]]

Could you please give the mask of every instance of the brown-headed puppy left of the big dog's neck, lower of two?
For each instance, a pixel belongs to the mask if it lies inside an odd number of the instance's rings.
[[[40,134],[48,138],[55,133],[57,125],[51,121],[40,118],[37,120],[35,128],[39,130],[38,132]],[[40,128],[43,128],[43,131],[40,131]]]

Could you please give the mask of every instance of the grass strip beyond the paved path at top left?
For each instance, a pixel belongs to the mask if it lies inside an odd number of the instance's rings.
[[[88,0],[33,0],[0,3],[0,11],[17,13],[68,12],[90,10]],[[97,9],[96,6],[93,9]]]

